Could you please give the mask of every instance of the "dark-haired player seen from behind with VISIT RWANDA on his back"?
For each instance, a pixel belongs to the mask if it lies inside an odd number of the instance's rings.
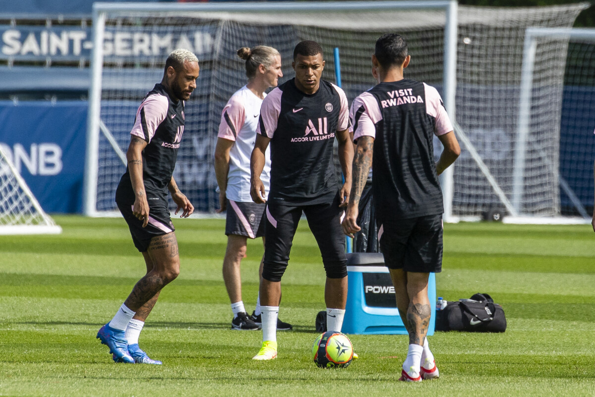
[[[358,96],[350,111],[357,147],[343,230],[346,235],[360,230],[358,202],[372,165],[380,248],[409,333],[399,380],[420,382],[439,375],[425,337],[431,315],[428,278],[442,267],[444,207],[438,176],[461,149],[437,90],[403,78],[409,60],[403,37],[387,33],[377,40],[372,74],[378,85]],[[444,146],[437,162],[434,135]]]

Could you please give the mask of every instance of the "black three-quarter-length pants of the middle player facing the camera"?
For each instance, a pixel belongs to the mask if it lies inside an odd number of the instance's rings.
[[[322,204],[287,205],[271,201],[267,203],[262,277],[272,282],[281,280],[287,268],[293,236],[302,211],[318,243],[327,277],[346,277],[345,235],[341,228],[343,208],[339,208],[338,194],[332,202]]]

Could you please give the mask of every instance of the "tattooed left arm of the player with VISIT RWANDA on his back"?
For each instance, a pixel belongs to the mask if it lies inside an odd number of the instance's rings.
[[[374,150],[374,138],[371,136],[361,136],[358,139],[358,146],[355,149],[353,157],[353,183],[349,205],[347,205],[347,214],[343,220],[343,233],[353,237],[353,233],[359,232],[361,227],[356,223],[358,218],[359,199],[364,190],[364,185],[368,179],[368,173],[372,166],[372,152]]]

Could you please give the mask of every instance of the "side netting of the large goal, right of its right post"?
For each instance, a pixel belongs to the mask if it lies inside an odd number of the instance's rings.
[[[456,121],[459,137],[472,145],[463,145],[455,162],[454,214],[478,216],[497,208],[531,223],[561,214],[560,104],[568,40],[538,47],[533,88],[523,85],[524,43],[533,27],[571,27],[586,7],[461,12]],[[524,98],[533,98],[528,108]],[[530,120],[523,116],[528,111]]]

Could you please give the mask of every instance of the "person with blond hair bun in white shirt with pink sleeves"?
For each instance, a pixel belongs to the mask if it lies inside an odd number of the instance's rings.
[[[268,46],[242,47],[237,55],[246,61],[248,84],[237,90],[223,108],[215,147],[215,176],[219,186],[220,209],[227,209],[227,249],[223,259],[223,280],[231,301],[231,329],[258,330],[262,323],[260,299],[256,310],[248,315],[242,301],[240,264],[246,256],[248,237],[264,240],[265,204],[250,198],[250,154],[256,139],[256,125],[265,90],[276,87],[281,71],[281,55]],[[261,180],[268,192],[271,171],[267,149]],[[259,268],[262,276],[262,261]],[[290,330],[291,324],[277,320],[278,330]]]

